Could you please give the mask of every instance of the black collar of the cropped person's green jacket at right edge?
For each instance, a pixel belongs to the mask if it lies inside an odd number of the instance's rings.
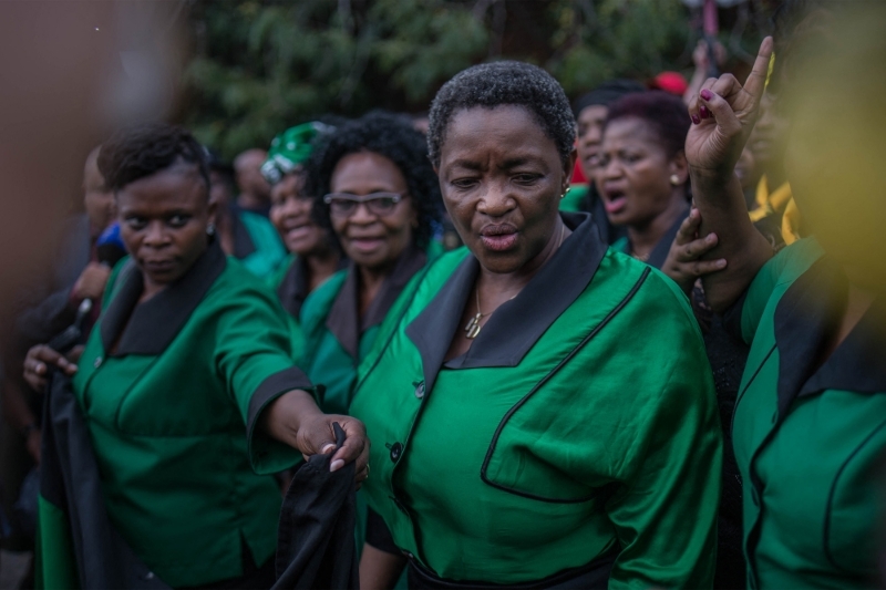
[[[843,269],[822,257],[782,296],[775,308],[779,348],[779,417],[797,397],[824,390],[886,392],[886,300],[878,297],[839,346],[818,365],[822,346],[833,338],[846,309],[848,281]]]

